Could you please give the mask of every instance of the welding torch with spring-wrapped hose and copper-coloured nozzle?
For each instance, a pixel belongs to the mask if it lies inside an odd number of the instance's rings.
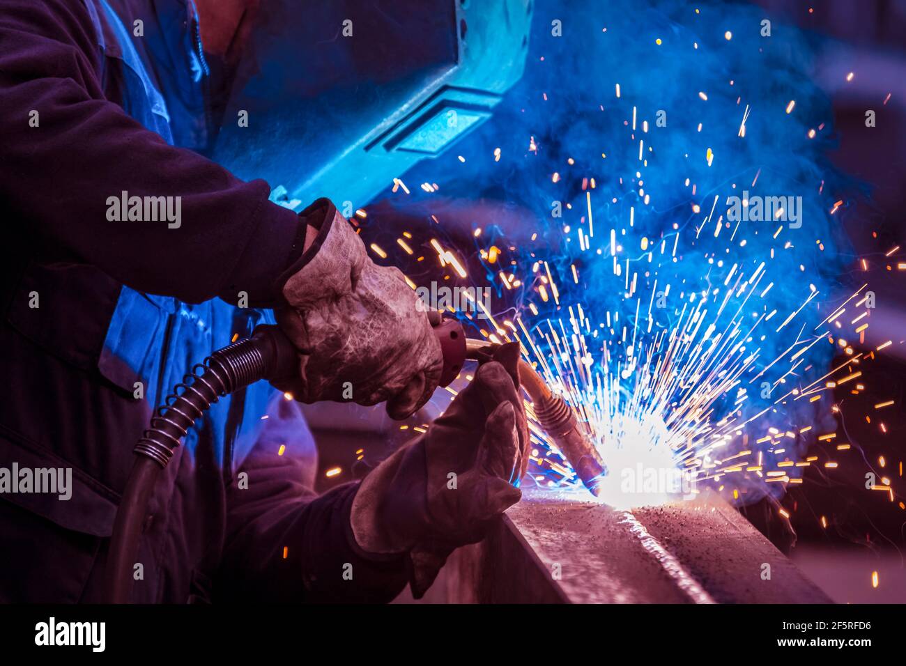
[[[431,312],[429,320],[443,353],[441,387],[458,377],[467,360],[480,362],[490,357],[495,344],[467,338],[462,324],[455,319]],[[298,372],[297,358],[293,343],[277,326],[259,325],[250,338],[217,350],[194,366],[154,412],[150,428],[133,449],[135,462],[113,524],[108,555],[109,602],[130,600],[132,567],[151,493],[188,429],[211,404],[233,391],[255,381],[280,381],[288,373]],[[597,496],[607,468],[573,409],[554,395],[524,359],[519,361],[518,372],[519,383],[532,401],[539,425],[573,466],[583,485]]]

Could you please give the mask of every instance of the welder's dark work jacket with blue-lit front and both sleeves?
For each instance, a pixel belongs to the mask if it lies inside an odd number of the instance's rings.
[[[99,599],[151,410],[269,321],[238,292],[274,304],[300,251],[264,181],[200,154],[225,89],[200,45],[191,0],[0,0],[0,468],[72,468],[73,485],[0,494],[2,602]],[[180,197],[179,227],[111,221],[124,191]],[[152,498],[135,600],[390,600],[400,561],[355,548],[356,486],[316,497],[315,457],[265,384],[217,403]]]

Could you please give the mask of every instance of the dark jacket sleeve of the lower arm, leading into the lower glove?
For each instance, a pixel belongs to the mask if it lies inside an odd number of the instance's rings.
[[[390,602],[409,580],[407,559],[356,545],[350,513],[359,483],[318,496],[313,459],[292,443],[281,451],[301,418],[298,403],[281,400],[268,411],[265,430],[226,489],[214,601]]]

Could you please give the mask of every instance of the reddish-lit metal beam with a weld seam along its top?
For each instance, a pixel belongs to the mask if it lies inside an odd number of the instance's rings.
[[[587,497],[526,487],[484,541],[449,558],[426,601],[831,603],[716,494],[631,510]]]

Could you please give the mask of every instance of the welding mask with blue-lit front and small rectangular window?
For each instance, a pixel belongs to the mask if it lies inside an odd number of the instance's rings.
[[[531,13],[531,0],[266,0],[212,157],[290,208],[359,208],[487,120],[523,72]]]

